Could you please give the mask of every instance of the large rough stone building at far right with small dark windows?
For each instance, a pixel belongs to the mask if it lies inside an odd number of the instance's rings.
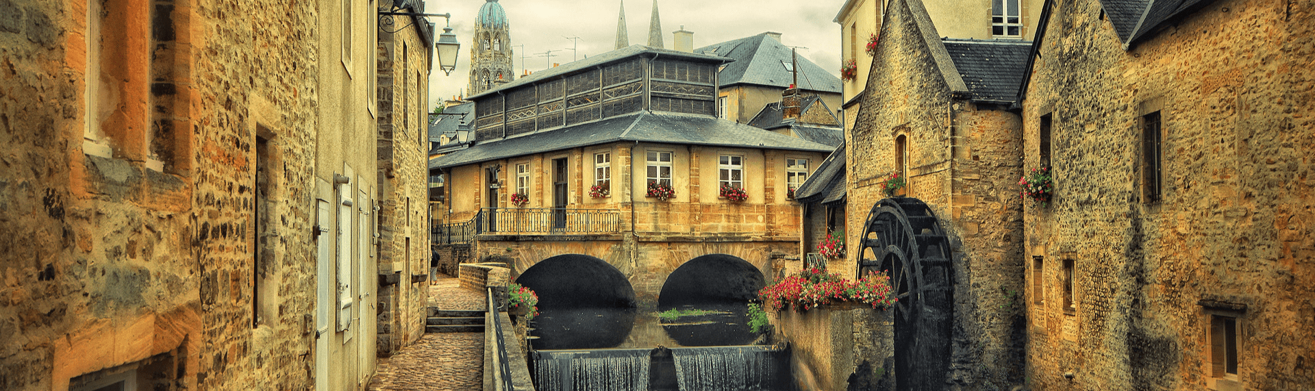
[[[1315,8],[1061,1],[1023,100],[1032,390],[1315,384]]]

